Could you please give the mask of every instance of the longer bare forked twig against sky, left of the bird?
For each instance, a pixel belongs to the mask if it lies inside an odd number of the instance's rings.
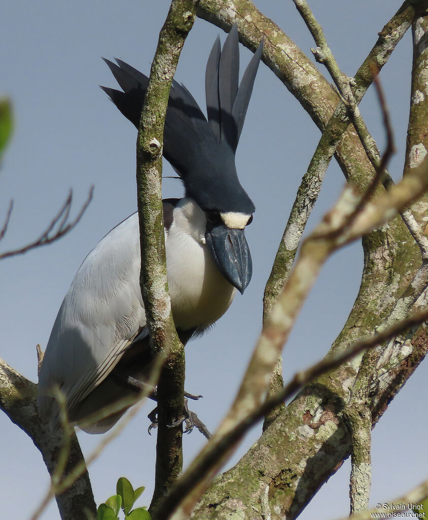
[[[73,192],[72,192],[72,190],[70,190],[68,197],[65,200],[65,202],[62,204],[59,212],[51,220],[50,224],[43,231],[43,233],[40,235],[40,237],[38,237],[36,240],[31,242],[30,244],[22,246],[22,248],[14,249],[11,251],[6,251],[5,253],[0,254],[0,260],[3,260],[4,258],[8,258],[10,256],[16,256],[16,255],[21,255],[23,253],[27,253],[27,251],[38,248],[42,245],[51,244],[52,242],[55,242],[56,240],[60,239],[64,235],[66,235],[66,233],[71,231],[79,223],[79,221],[82,218],[83,214],[85,213],[90,201],[92,200],[93,192],[94,192],[94,187],[92,186],[92,187],[90,187],[88,197],[87,197],[86,201],[84,202],[83,206],[81,207],[77,216],[71,222],[67,222],[69,214],[70,214],[71,203],[73,200]]]

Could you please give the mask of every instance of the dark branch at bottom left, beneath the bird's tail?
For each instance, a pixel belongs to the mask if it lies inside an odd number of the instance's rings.
[[[51,431],[38,417],[37,385],[25,379],[3,360],[0,360],[0,408],[31,438],[42,453],[49,474],[53,476],[63,449],[62,434],[58,429]],[[73,432],[63,474],[68,475],[78,464],[84,464],[84,459]],[[83,518],[85,510],[96,515],[94,496],[86,470],[82,471],[81,476],[68,489],[58,493],[56,500],[62,520],[75,520],[76,516]]]

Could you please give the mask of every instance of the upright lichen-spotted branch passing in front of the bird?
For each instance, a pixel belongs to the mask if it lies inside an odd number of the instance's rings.
[[[162,146],[171,83],[186,36],[196,17],[191,0],[173,0],[159,35],[137,138],[137,200],[141,245],[141,290],[153,347],[159,353],[150,382],[158,380],[158,441],[155,489],[158,502],[183,466],[182,426],[169,428],[183,412],[184,348],[171,313],[165,260],[162,211]]]

